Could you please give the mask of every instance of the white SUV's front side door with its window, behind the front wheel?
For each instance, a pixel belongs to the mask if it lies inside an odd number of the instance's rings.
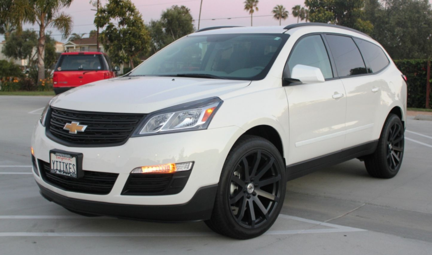
[[[325,82],[285,86],[290,115],[288,165],[339,151],[345,139],[345,91],[340,79],[334,78],[322,35],[299,39],[287,62],[290,73],[297,64],[320,68]]]

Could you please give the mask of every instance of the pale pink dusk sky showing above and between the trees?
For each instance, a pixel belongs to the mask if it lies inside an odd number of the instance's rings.
[[[101,0],[102,4],[108,0]],[[195,19],[195,28],[198,28],[198,16],[200,12],[201,0],[132,0],[141,12],[144,22],[148,23],[152,19],[159,19],[161,12],[172,5],[185,5],[191,9],[193,18]],[[248,13],[243,10],[244,0],[203,0],[203,9],[201,12],[201,25],[200,28],[211,26],[250,26],[250,18],[233,18],[233,19],[218,19],[206,20],[212,18],[228,18],[228,17],[245,17]],[[430,0],[432,2],[432,0]],[[300,4],[304,6],[304,0],[260,0],[258,3],[259,11],[254,13],[253,25],[266,26],[266,25],[279,25],[279,21],[271,16],[259,17],[261,15],[271,15],[271,11],[277,4],[282,4],[290,12],[289,18],[282,21],[282,25],[297,23],[297,18],[291,15],[291,8],[294,5]],[[93,6],[89,0],[74,0],[72,5],[65,9],[65,12],[70,14],[74,21],[73,33],[88,33],[92,29],[96,29],[93,25],[95,11],[91,9]],[[37,26],[24,25],[24,28],[32,28],[38,30]],[[58,41],[64,41],[61,38],[60,32],[55,29],[49,28],[52,31],[54,38]],[[88,35],[85,35],[87,37]],[[3,40],[3,36],[0,36]]]

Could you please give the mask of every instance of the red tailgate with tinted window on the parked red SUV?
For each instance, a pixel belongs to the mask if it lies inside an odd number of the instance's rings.
[[[59,87],[76,87],[105,78],[106,64],[101,54],[62,55],[57,64]]]

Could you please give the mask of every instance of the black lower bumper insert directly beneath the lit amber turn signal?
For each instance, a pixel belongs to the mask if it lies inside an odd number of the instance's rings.
[[[175,174],[130,174],[122,195],[172,195],[185,188],[191,171]]]

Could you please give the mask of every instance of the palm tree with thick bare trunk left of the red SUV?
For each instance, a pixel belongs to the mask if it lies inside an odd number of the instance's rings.
[[[29,22],[39,26],[37,45],[37,79],[45,79],[45,29],[56,28],[66,40],[72,30],[72,17],[63,11],[71,5],[72,0],[15,0],[16,12],[12,15],[20,22]]]

